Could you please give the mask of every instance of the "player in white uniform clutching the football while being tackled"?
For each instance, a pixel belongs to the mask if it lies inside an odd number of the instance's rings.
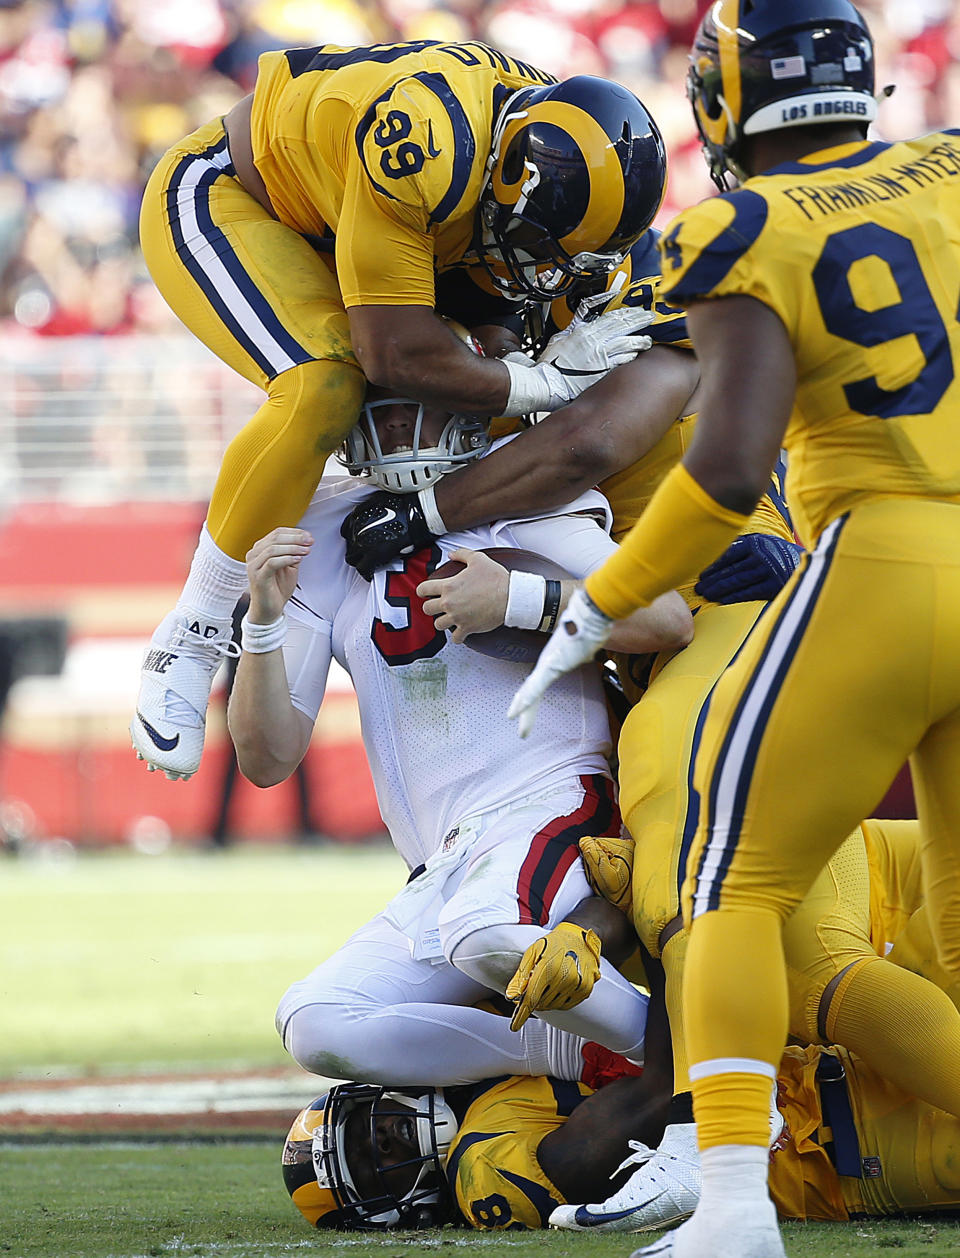
[[[371,392],[345,452],[361,479],[322,483],[301,527],[274,530],[248,555],[229,723],[245,776],[283,780],[306,752],[336,658],[354,679],[381,814],[411,879],[289,988],[278,1032],[306,1069],[377,1083],[578,1078],[585,1040],[639,1060],[647,1001],[605,959],[575,1011],[531,1019],[518,1034],[474,1008],[503,993],[526,947],[589,896],[579,838],[619,833],[599,672],[554,687],[537,736],[522,741],[507,721],[528,667],[516,644],[500,643],[498,655],[494,638],[489,655],[458,643],[416,595],[460,547],[525,552],[555,576],[583,577],[615,548],[609,508],[591,491],[557,511],[440,537],[366,581],[345,562],[347,512],[375,488],[421,488],[486,445],[473,420]],[[513,572],[507,621],[546,629],[557,598],[554,577]],[[625,621],[619,645],[650,652],[691,637],[689,611],[671,594]]]

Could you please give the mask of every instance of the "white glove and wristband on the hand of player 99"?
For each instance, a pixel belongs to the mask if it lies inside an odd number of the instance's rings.
[[[557,410],[603,379],[608,371],[630,362],[649,350],[649,336],[637,336],[653,322],[654,313],[642,306],[620,306],[591,323],[576,318],[551,336],[539,362],[508,353],[501,362],[510,371],[506,415]]]

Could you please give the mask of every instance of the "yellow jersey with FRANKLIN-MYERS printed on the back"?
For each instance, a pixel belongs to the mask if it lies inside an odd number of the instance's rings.
[[[749,296],[796,359],[788,498],[807,546],[861,502],[960,502],[960,131],[825,148],[679,214],[663,293]]]

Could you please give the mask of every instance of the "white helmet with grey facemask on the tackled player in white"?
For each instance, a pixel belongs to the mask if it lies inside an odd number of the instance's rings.
[[[466,327],[444,320],[460,341],[474,353],[483,353],[479,342]],[[416,418],[409,449],[384,454],[376,430],[376,413],[386,406],[415,406]],[[347,433],[337,450],[337,460],[351,476],[366,476],[381,489],[391,493],[416,493],[434,484],[448,472],[478,458],[491,443],[489,420],[474,415],[450,415],[435,445],[420,444],[427,408],[410,398],[375,398],[365,401],[360,419]]]

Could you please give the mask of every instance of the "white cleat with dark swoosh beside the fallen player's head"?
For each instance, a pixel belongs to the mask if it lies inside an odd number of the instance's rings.
[[[650,1232],[689,1218],[700,1201],[700,1152],[692,1122],[667,1127],[659,1149],[630,1141],[633,1152],[618,1167],[639,1169],[599,1205],[559,1205],[551,1228],[567,1232]],[[614,1174],[617,1174],[614,1171]]]

